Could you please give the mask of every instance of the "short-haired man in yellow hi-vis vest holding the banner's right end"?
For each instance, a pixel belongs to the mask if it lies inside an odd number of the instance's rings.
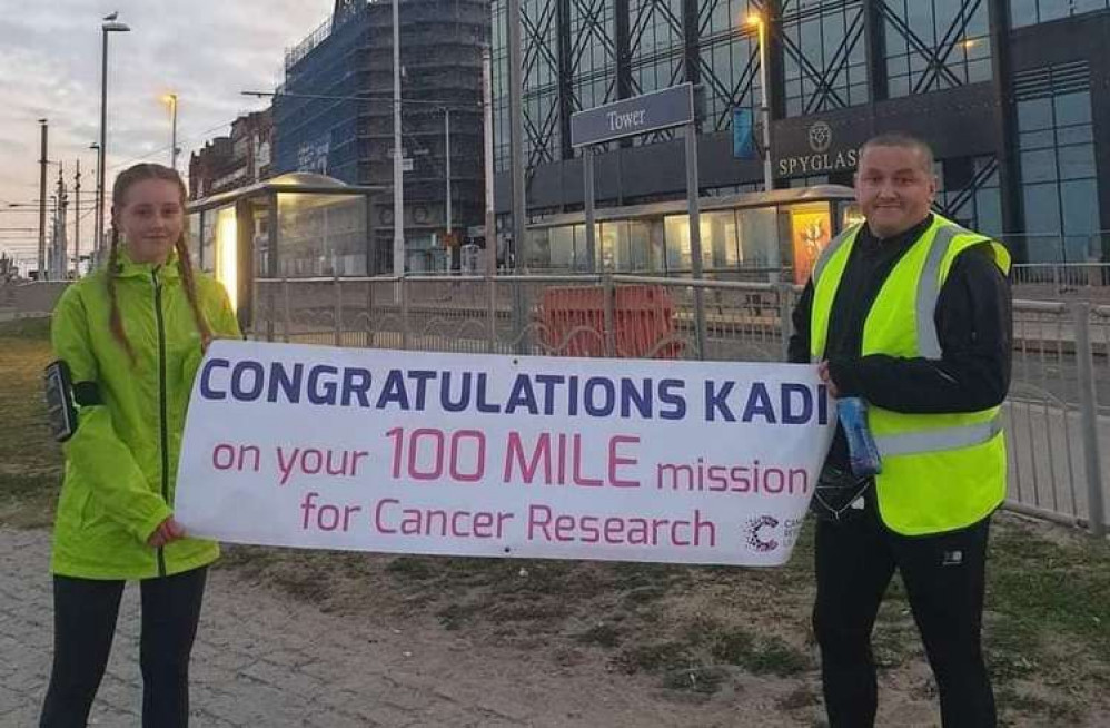
[[[838,430],[814,499],[813,627],[832,728],[874,725],[871,631],[895,569],[943,725],[995,725],[980,633],[988,524],[1005,494],[1010,257],[932,214],[935,193],[923,141],[865,144],[865,223],[822,253],[794,312],[791,361],[820,362],[834,397],[868,403],[882,456],[879,475],[852,476]]]

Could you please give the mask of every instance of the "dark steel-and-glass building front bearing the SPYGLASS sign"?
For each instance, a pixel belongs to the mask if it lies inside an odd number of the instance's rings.
[[[776,188],[851,185],[863,141],[908,131],[936,153],[941,213],[1000,237],[1019,260],[1110,259],[1110,0],[522,0],[522,12],[533,222],[582,209],[574,112],[684,81],[701,97],[701,194],[762,189],[765,50]],[[493,19],[505,214],[504,0]],[[597,204],[684,198],[681,136],[602,147]]]

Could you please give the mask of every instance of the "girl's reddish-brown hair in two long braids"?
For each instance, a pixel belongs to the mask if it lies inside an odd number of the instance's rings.
[[[182,213],[185,211],[188,193],[186,191],[185,181],[181,179],[181,175],[179,175],[176,169],[170,169],[169,167],[150,163],[142,163],[128,167],[120,173],[118,177],[116,177],[116,184],[112,186],[113,210],[122,208],[127,191],[132,185],[147,179],[163,179],[177,185],[181,196],[181,210]],[[192,309],[192,319],[196,322],[197,331],[200,333],[201,345],[207,350],[209,342],[212,340],[212,332],[211,327],[208,325],[208,319],[200,309],[200,303],[197,298],[197,284],[192,273],[192,259],[189,256],[189,246],[186,243],[187,235],[188,219],[186,219],[186,225],[181,230],[181,236],[174,243],[174,249],[177,250],[177,267],[181,275],[181,283],[185,287],[185,295],[189,301],[189,307]],[[123,347],[133,364],[135,348],[131,346],[131,342],[127,337],[127,331],[123,328],[123,317],[120,313],[119,301],[117,298],[116,278],[118,276],[119,228],[116,226],[116,222],[112,220],[111,248],[108,254],[108,301],[110,304],[109,324],[111,326],[112,336],[117,342],[119,342],[120,346]]]

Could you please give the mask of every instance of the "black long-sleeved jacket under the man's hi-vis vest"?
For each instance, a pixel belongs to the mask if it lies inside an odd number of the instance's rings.
[[[841,396],[861,396],[909,414],[978,412],[998,406],[1010,388],[1013,323],[1010,285],[983,246],[960,254],[941,287],[933,319],[941,358],[861,356],[863,324],[894,265],[932,224],[932,215],[902,235],[880,240],[866,225],[852,247],[833,299],[825,358]],[[813,281],[794,309],[790,361],[810,361]],[[830,463],[845,465],[838,429]]]

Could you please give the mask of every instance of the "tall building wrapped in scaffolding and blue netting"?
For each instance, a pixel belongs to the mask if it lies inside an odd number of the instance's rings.
[[[447,267],[448,229],[457,234],[483,219],[482,46],[488,42],[488,0],[400,2],[404,228],[410,270]],[[392,187],[392,3],[337,0],[331,18],[286,55],[285,69],[274,102],[277,171],[315,171],[348,184]],[[392,195],[375,199],[371,217],[376,270],[388,270]]]

